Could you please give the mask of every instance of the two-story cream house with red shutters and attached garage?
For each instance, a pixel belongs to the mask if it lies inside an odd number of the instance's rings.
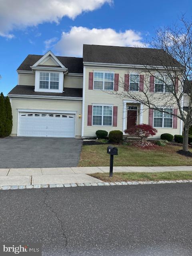
[[[143,62],[159,65],[157,54],[160,50],[84,45],[83,58],[55,56],[51,51],[28,55],[17,69],[18,85],[8,94],[12,136],[86,138],[95,136],[96,130],[123,132],[142,123],[157,128],[156,138],[162,133],[182,134],[178,118],[110,93],[124,90],[123,81],[138,94],[148,83],[161,97],[164,85],[151,76],[144,82],[142,74]],[[176,106],[170,111],[177,111]]]

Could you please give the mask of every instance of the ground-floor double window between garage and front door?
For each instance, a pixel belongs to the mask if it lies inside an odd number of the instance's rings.
[[[93,106],[93,125],[112,126],[112,106]]]

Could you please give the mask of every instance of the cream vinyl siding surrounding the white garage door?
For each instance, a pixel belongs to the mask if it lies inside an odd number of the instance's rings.
[[[11,98],[12,115],[13,115],[13,128],[12,134],[17,134],[18,126],[18,109],[38,109],[40,112],[43,110],[57,110],[61,111],[77,111],[76,113],[76,136],[81,136],[82,119],[82,101],[81,100],[51,100],[51,99],[30,99],[30,98]]]

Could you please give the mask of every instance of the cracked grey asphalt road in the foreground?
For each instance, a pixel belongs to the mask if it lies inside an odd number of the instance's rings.
[[[0,237],[44,256],[191,256],[192,183],[1,190]]]

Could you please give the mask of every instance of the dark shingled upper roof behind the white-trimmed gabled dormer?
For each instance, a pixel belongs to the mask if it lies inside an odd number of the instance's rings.
[[[22,64],[18,67],[17,70],[32,70],[30,66],[33,66],[43,55],[32,55],[29,54]],[[83,58],[75,58],[75,57],[61,57],[56,56],[58,60],[68,68],[69,73],[83,73]],[[42,65],[40,65],[42,66]],[[56,67],[56,66],[54,66]]]

